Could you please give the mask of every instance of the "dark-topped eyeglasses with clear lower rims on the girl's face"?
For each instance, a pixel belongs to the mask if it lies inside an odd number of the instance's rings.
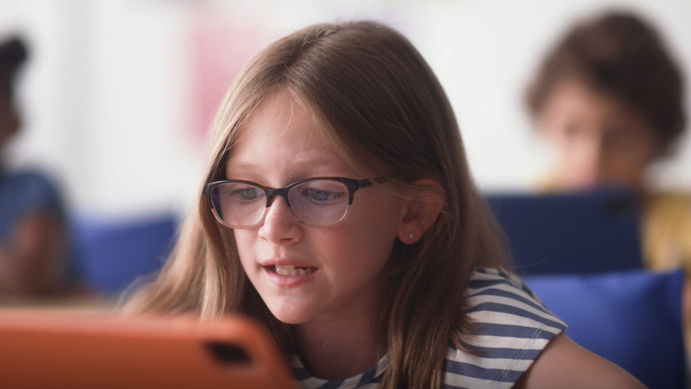
[[[379,182],[381,178],[372,181]],[[264,218],[274,196],[281,196],[295,218],[306,225],[334,225],[345,219],[358,189],[370,180],[340,177],[307,178],[276,189],[243,180],[211,182],[204,188],[216,220],[229,228],[254,227]]]

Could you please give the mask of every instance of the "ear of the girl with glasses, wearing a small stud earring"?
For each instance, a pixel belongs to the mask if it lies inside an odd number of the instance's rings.
[[[414,182],[419,189],[410,189],[408,200],[404,200],[406,210],[398,227],[398,239],[406,245],[417,243],[432,227],[444,207],[444,189],[431,178],[421,178]]]

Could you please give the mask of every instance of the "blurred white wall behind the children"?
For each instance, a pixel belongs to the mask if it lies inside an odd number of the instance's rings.
[[[522,90],[565,23],[611,3],[422,3],[0,1],[0,32],[19,29],[32,48],[20,91],[26,125],[10,158],[48,169],[79,211],[180,211],[196,194],[204,148],[191,130],[199,108],[189,104],[190,32],[205,18],[227,23],[247,30],[258,50],[310,23],[366,18],[398,28],[428,59],[455,108],[480,187],[527,189],[549,156],[529,129]],[[659,26],[691,90],[691,2],[618,4]],[[688,97],[686,106],[691,112]],[[657,173],[661,185],[691,190],[691,137]]]

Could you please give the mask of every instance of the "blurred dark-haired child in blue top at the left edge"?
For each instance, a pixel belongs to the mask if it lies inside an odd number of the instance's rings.
[[[0,44],[1,148],[21,127],[15,81],[26,58],[26,47],[18,38]],[[0,297],[61,294],[69,281],[59,193],[42,173],[9,171],[0,165]]]

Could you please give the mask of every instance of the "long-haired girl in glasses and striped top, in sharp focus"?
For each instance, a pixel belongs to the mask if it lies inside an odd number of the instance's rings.
[[[500,270],[446,95],[390,28],[274,42],[211,144],[196,208],[130,312],[254,316],[306,388],[638,385]]]

